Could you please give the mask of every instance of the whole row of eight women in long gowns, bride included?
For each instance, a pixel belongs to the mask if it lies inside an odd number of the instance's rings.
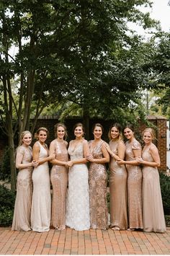
[[[100,123],[94,125],[92,132],[94,139],[86,141],[83,125],[76,123],[75,139],[68,145],[66,126],[57,123],[49,150],[45,144],[46,128],[37,130],[32,149],[31,133],[22,133],[16,156],[19,173],[13,230],[42,232],[66,226],[77,231],[106,230],[110,225],[113,230],[166,231],[157,169],[160,158],[153,144],[153,130],[143,131],[143,150],[132,125],[124,128],[126,143],[118,123],[109,129],[109,144],[102,140]],[[50,172],[48,162],[52,164]]]

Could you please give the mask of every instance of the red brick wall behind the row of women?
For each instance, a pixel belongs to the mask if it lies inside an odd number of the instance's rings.
[[[159,167],[158,169],[160,171],[166,171],[166,118],[164,117],[159,117],[159,116],[148,116],[148,120],[156,126],[156,138],[157,140],[154,141],[154,143],[156,144],[156,146],[158,147],[158,151],[160,154],[160,158],[161,158],[161,167]],[[67,119],[64,123],[67,127],[67,131],[68,131],[68,141],[71,141],[71,139],[74,138],[73,136],[73,125],[75,125],[75,123],[82,123],[82,119],[81,118],[70,118]],[[58,123],[58,120],[55,118],[43,118],[43,119],[39,119],[37,122],[37,125],[35,127],[35,131],[37,130],[37,128],[41,127],[41,126],[45,126],[46,128],[48,128],[49,131],[49,136],[47,139],[47,144],[49,146],[50,141],[53,141],[53,139],[55,138],[54,136],[54,125],[55,123]],[[104,133],[102,138],[104,139],[104,141],[108,142],[108,136],[107,133],[109,131],[109,126],[114,123],[113,120],[102,120],[102,119],[97,119],[97,118],[93,118],[89,121],[89,139],[93,138],[93,134],[91,133],[91,128],[92,125],[94,123],[102,123],[102,125],[104,126]],[[139,126],[138,128],[136,128],[136,133],[139,139],[141,139],[141,133],[143,132],[143,130],[146,128],[146,125],[144,125],[143,123],[141,123],[139,121]],[[32,141],[32,144],[35,142],[35,140]],[[3,150],[4,147],[6,145],[6,141],[3,141],[2,138],[0,138],[0,163],[1,163],[1,157],[3,154]]]

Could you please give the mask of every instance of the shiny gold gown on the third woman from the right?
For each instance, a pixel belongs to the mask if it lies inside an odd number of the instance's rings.
[[[117,146],[123,141],[109,141],[110,149],[117,154]],[[110,226],[128,228],[127,171],[124,164],[117,164],[114,157],[109,162]]]

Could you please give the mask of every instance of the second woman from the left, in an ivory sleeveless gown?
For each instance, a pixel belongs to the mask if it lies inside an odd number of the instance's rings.
[[[48,146],[45,144],[48,130],[41,127],[35,133],[38,139],[35,142],[32,154],[38,162],[32,173],[33,195],[31,208],[31,228],[33,231],[43,232],[50,229],[51,195],[50,175],[48,161],[55,159],[55,154],[48,154]]]

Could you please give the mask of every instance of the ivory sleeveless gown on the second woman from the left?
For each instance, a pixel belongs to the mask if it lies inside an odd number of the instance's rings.
[[[38,141],[40,144],[40,142]],[[48,157],[48,151],[40,144],[39,159]],[[51,195],[48,162],[35,167],[32,173],[33,194],[31,228],[43,232],[50,229]]]

